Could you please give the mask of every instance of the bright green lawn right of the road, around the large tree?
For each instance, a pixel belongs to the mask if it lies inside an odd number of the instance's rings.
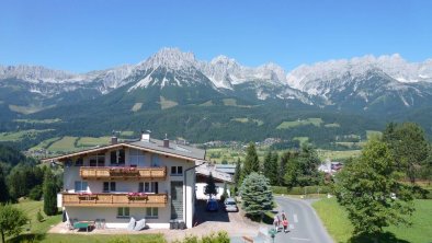
[[[416,200],[416,212],[412,216],[412,227],[388,227],[379,242],[411,242],[427,243],[432,240],[432,200]],[[330,235],[338,243],[352,240],[353,225],[348,219],[346,211],[339,206],[336,198],[322,199],[312,204]],[[394,234],[394,235],[391,235]],[[394,238],[396,236],[396,239]]]

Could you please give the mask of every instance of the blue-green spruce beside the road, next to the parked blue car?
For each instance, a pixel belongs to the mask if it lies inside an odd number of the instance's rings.
[[[258,220],[265,210],[272,209],[273,195],[265,176],[252,172],[243,180],[240,192],[247,217]]]

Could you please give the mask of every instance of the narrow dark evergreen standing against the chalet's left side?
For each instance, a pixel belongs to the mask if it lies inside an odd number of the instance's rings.
[[[53,172],[48,169],[44,176],[44,212],[47,216],[57,213],[57,186]]]

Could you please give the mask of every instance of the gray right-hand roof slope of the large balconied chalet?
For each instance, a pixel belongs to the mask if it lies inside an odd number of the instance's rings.
[[[134,141],[127,142],[130,146],[141,147],[146,149],[157,150],[160,152],[173,153],[178,155],[189,157],[197,160],[204,160],[205,150],[197,149],[191,146],[177,144],[170,141],[169,147],[163,147],[163,140],[150,139],[150,141]]]

